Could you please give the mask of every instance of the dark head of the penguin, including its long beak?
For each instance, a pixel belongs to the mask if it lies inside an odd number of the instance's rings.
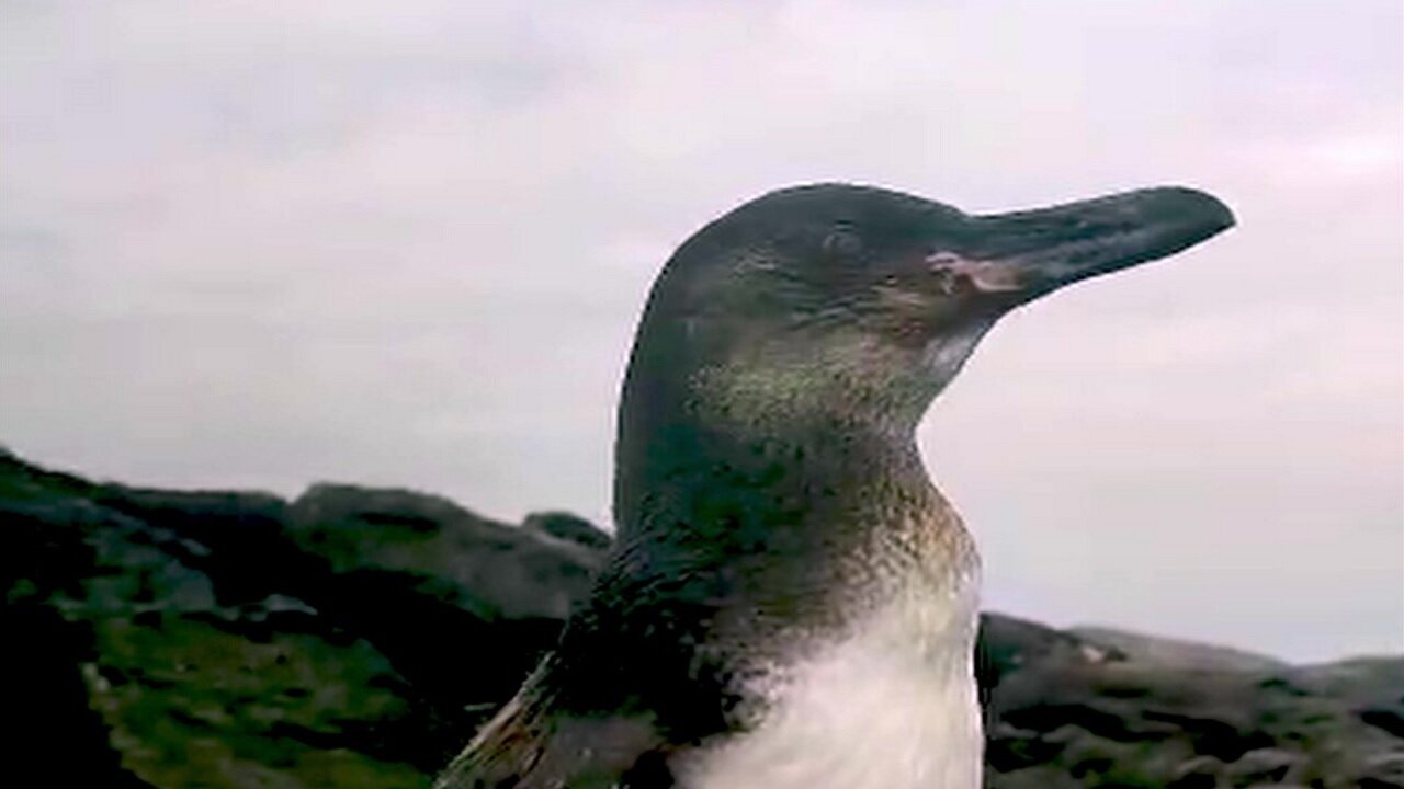
[[[678,248],[635,366],[651,358],[691,382],[722,380],[743,407],[838,403],[914,425],[1000,316],[1233,222],[1185,188],[986,216],[869,187],[781,190]]]

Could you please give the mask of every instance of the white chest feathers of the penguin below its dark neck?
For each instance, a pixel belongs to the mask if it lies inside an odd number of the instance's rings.
[[[675,765],[685,789],[979,789],[974,584],[899,595],[785,672],[751,731]]]

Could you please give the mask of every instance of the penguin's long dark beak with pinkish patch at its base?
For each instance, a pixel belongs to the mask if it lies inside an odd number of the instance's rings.
[[[1219,199],[1155,188],[1038,211],[972,218],[976,246],[936,253],[934,270],[966,277],[1005,309],[1080,279],[1148,263],[1233,227]]]

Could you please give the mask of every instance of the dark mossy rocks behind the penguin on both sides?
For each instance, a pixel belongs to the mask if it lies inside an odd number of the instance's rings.
[[[0,453],[15,786],[427,786],[587,592],[607,533],[435,496],[97,484]],[[988,785],[1404,785],[1404,660],[1293,667],[987,615]]]

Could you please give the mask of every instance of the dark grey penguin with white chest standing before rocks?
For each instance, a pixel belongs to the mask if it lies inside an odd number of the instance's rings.
[[[819,184],[705,226],[637,327],[607,566],[435,786],[980,786],[980,560],[917,424],[1000,316],[1233,223],[1175,187],[967,215]]]

